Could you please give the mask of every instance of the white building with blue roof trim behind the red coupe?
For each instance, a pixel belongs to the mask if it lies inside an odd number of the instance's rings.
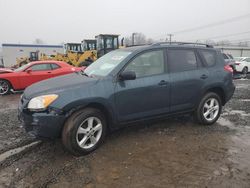
[[[31,57],[38,52],[40,55],[56,55],[63,53],[63,45],[41,45],[41,44],[2,44],[3,64],[5,67],[11,67],[16,64],[17,58]]]

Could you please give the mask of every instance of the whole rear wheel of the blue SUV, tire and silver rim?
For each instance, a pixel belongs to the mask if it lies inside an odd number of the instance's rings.
[[[195,111],[195,119],[203,125],[214,124],[222,110],[221,98],[213,92],[207,93],[200,101]]]

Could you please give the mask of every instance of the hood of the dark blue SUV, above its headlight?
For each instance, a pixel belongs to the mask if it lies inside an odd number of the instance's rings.
[[[37,82],[24,91],[24,97],[31,99],[39,95],[56,94],[74,87],[87,87],[95,84],[98,78],[87,77],[80,73],[72,73],[64,76]]]

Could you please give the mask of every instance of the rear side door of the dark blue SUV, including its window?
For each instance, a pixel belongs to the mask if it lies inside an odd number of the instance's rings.
[[[171,112],[194,108],[208,79],[208,71],[203,68],[195,49],[169,48],[167,57],[171,80]]]

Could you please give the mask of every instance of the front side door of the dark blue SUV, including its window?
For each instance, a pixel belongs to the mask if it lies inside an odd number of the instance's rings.
[[[123,71],[134,71],[135,80],[117,81],[115,102],[118,121],[130,121],[169,111],[169,75],[163,50],[144,52]]]

